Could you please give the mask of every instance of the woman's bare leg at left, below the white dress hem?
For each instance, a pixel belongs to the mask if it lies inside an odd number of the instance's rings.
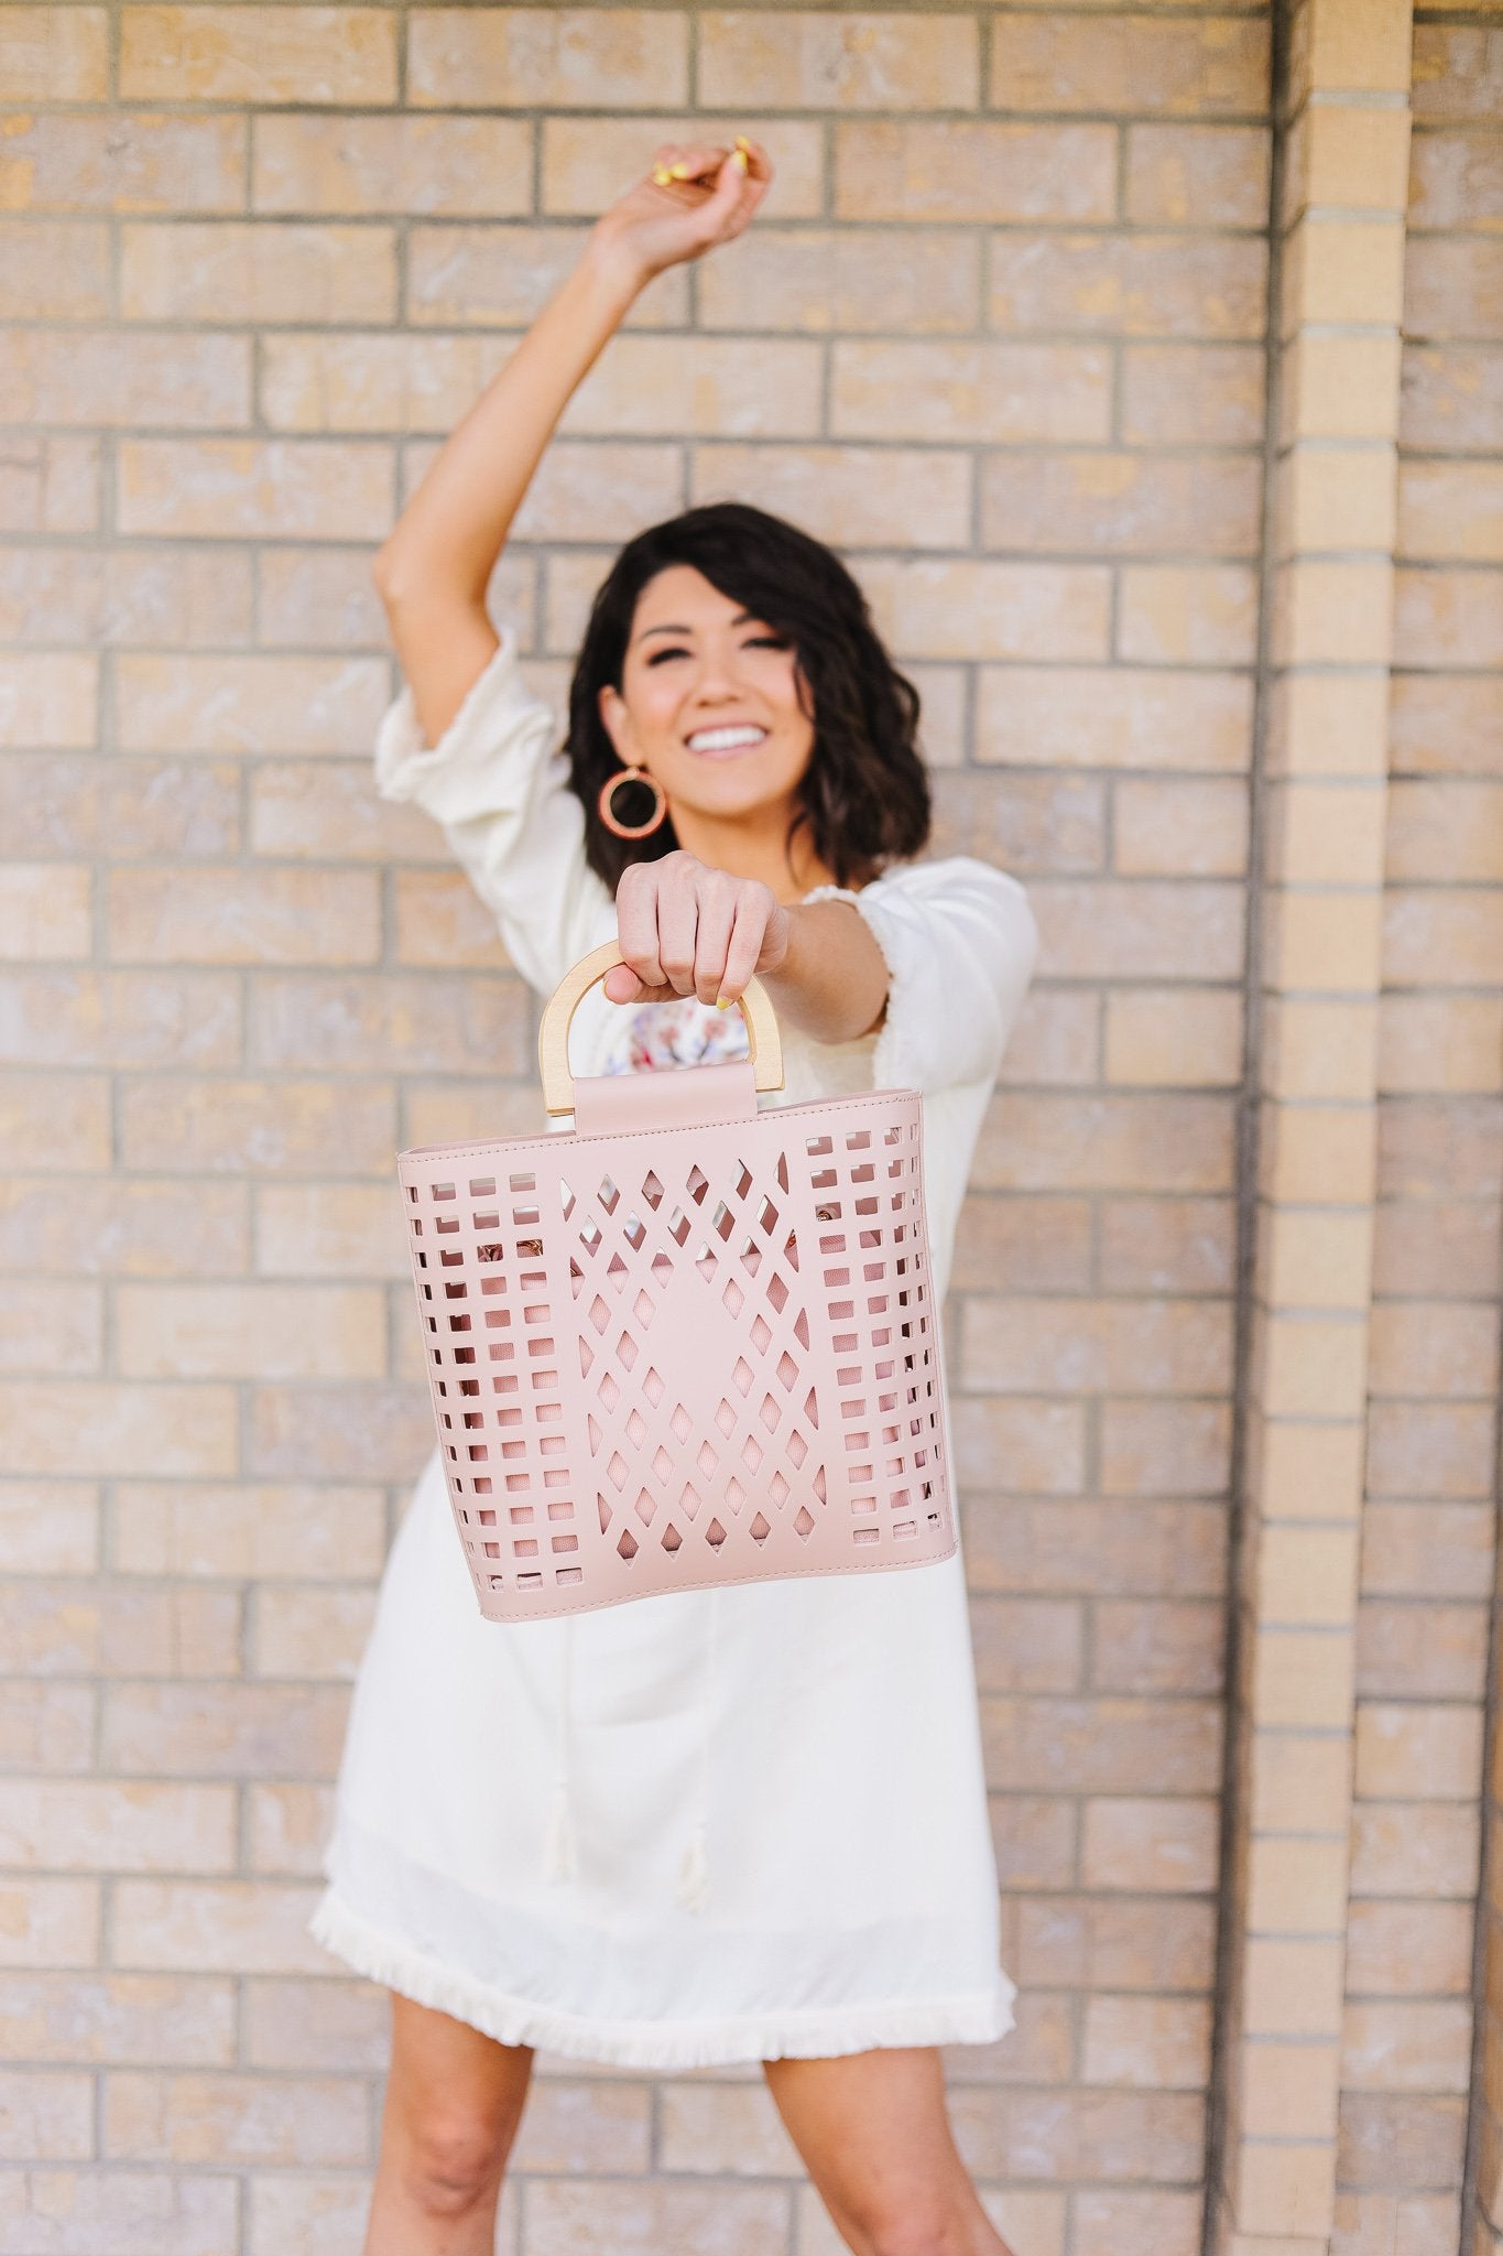
[[[392,2069],[365,2256],[491,2256],[500,2177],[530,2078],[530,2044],[496,2044],[392,1992]]]

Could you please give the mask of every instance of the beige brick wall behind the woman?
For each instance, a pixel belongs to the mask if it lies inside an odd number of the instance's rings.
[[[1320,1390],[1354,1390],[1368,1498],[1314,1439],[1291,1478],[1350,1482],[1352,1518],[1296,1512],[1262,1588],[1320,1633],[1350,1584],[1329,2245],[1451,2256],[1494,1502],[1503,34],[1494,7],[1415,32],[1395,607],[1370,309],[1399,287],[1408,70],[1352,65],[1393,47],[1386,0],[1320,25],[1363,99],[1307,147],[1309,205],[1350,208],[1289,246],[1323,314],[1284,397],[1341,420],[1289,503],[1271,659],[1316,722],[1332,666],[1379,681],[1379,776],[1390,634],[1397,670],[1386,823],[1348,792],[1287,830],[1336,855],[1282,873],[1291,984],[1343,999],[1284,1058],[1368,1092],[1377,1299],[1368,1324],[1339,1094],[1278,1277],[1291,1306],[1339,1290],[1361,1342],[1284,1376],[1316,1433]],[[588,217],[701,113],[768,144],[775,196],[644,293],[496,600],[559,693],[615,544],[753,492],[843,546],[919,681],[937,851],[1030,884],[1043,966],[946,1311],[1021,2001],[951,2055],[953,2112],[1019,2256],[1192,2256],[1255,1367],[1266,16],[68,0],[0,9],[0,1275],[27,1281],[0,1302],[0,2256],[361,2242],[383,1997],[304,1920],[428,1451],[392,1153],[536,1114],[532,997],[437,830],[370,787],[367,569]],[[1379,857],[1368,923],[1345,853]],[[1289,1746],[1269,1834],[1325,1791]],[[755,2069],[541,2060],[498,2247],[606,2245],[836,2247]]]

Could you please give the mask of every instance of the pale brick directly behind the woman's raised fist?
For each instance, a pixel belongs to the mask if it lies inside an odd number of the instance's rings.
[[[599,23],[599,16],[595,16]],[[825,212],[825,129],[786,115],[748,117],[737,129],[764,149],[777,151],[777,178],[768,192],[768,219],[818,219]],[[647,169],[662,142],[696,142],[705,135],[699,111],[651,117],[545,117],[543,120],[543,212],[554,219],[597,219],[622,194],[626,180]],[[913,214],[917,217],[917,214]]]

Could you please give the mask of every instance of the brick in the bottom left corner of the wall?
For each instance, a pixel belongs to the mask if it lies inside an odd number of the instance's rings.
[[[228,2177],[0,2170],[0,2231],[16,2251],[45,2247],[50,2256],[144,2256],[146,2249],[171,2247],[174,2256],[221,2256],[234,2236],[234,2182]]]

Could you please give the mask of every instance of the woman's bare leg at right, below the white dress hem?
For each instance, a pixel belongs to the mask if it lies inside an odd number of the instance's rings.
[[[762,2069],[856,2256],[1012,2256],[955,2152],[933,2046],[764,2060]]]

